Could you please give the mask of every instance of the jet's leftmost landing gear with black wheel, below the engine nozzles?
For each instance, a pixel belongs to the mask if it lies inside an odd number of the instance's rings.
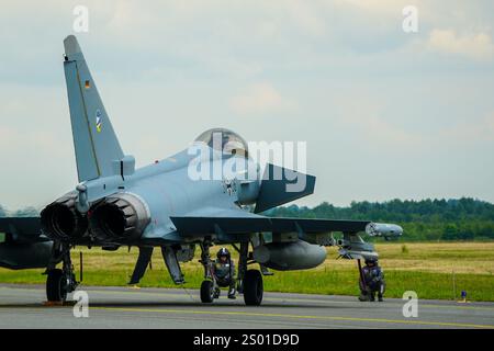
[[[60,261],[61,269],[57,269],[56,263]],[[52,262],[46,269],[46,298],[48,302],[65,302],[67,295],[74,292],[78,285],[74,274],[74,265],[70,260],[70,246],[55,244],[52,254]]]

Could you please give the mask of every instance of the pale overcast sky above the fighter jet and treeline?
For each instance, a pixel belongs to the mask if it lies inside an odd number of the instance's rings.
[[[418,33],[402,30],[408,4]],[[494,202],[493,24],[493,1],[2,0],[0,204],[41,207],[77,183],[68,34],[138,166],[224,126],[307,141],[316,193],[300,204]]]

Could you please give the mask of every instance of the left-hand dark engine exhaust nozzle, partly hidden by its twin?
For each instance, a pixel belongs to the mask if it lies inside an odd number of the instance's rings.
[[[42,230],[47,237],[70,240],[87,233],[88,220],[76,210],[76,193],[68,193],[42,211]]]

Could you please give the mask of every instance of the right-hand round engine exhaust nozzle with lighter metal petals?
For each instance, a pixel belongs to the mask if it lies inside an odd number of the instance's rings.
[[[149,220],[149,212],[141,199],[117,193],[91,211],[89,227],[100,240],[131,240],[141,237]]]

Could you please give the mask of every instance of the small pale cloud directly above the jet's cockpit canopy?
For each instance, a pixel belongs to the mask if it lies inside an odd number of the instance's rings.
[[[269,82],[256,83],[231,100],[231,107],[239,114],[277,112],[291,105]]]

